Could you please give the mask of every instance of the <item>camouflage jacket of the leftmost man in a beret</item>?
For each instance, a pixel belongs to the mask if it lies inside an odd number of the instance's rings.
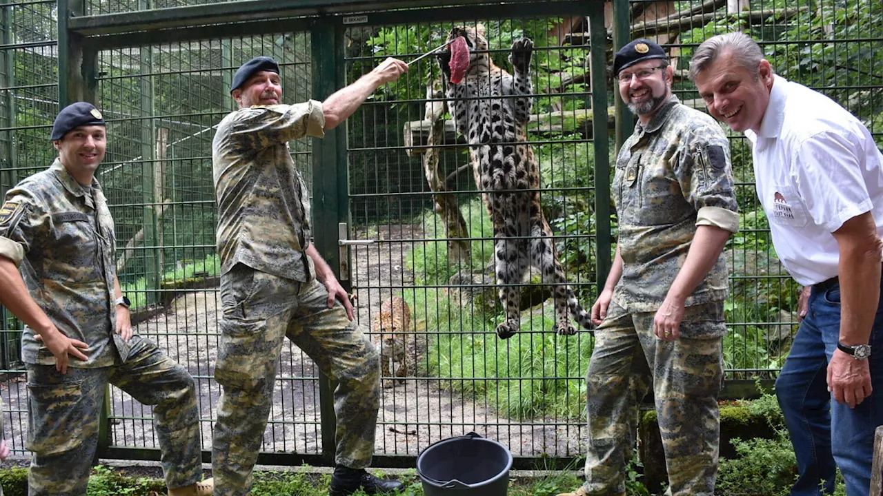
[[[87,362],[70,357],[71,366],[83,368],[117,361],[114,224],[98,181],[87,190],[56,159],[7,192],[0,209],[0,255],[19,266],[31,297],[58,330],[89,345]],[[21,348],[27,364],[56,363],[30,327]]]

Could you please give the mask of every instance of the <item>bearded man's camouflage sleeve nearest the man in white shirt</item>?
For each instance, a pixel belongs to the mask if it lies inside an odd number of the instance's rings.
[[[691,133],[680,164],[684,196],[696,208],[697,226],[739,231],[738,206],[727,137],[716,125]]]

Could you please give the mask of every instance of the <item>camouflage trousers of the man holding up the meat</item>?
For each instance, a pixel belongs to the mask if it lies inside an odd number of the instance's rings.
[[[328,308],[321,282],[300,283],[237,264],[221,277],[223,319],[215,380],[222,386],[212,444],[215,496],[245,496],[273,404],[286,336],[332,380],[338,464],[374,455],[380,358],[343,304]]]

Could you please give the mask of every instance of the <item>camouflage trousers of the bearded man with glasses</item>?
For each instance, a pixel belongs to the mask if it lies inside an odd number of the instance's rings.
[[[595,331],[587,373],[588,453],[584,489],[625,492],[626,465],[638,428],[638,402],[653,387],[669,494],[713,496],[723,380],[723,303],[687,307],[681,336],[653,334],[655,312],[629,313],[611,302]]]

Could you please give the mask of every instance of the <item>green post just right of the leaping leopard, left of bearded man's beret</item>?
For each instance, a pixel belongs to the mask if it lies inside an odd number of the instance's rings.
[[[595,152],[595,247],[598,292],[610,272],[610,151],[608,146],[607,28],[604,4],[588,2],[592,60],[592,139]]]

